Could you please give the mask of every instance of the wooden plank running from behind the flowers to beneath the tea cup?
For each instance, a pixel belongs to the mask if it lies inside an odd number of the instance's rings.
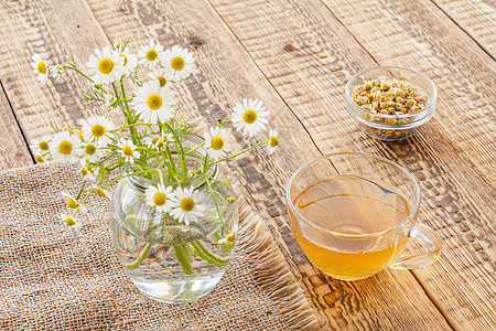
[[[242,157],[230,167],[234,173],[241,174],[248,197],[268,220],[310,299],[334,329],[450,329],[408,271],[388,270],[353,284],[335,281],[313,268],[301,253],[284,220],[284,188],[290,174],[320,152],[302,127],[301,118],[283,104],[208,3],[115,1],[111,7],[97,0],[88,3],[112,42],[131,35],[134,50],[137,43],[143,44],[149,39],[158,39],[165,46],[190,45],[194,50],[197,71],[185,83],[174,85],[187,105],[188,116],[214,124],[215,115],[228,117],[234,103],[244,97],[265,100],[272,111],[272,126],[282,131],[280,150],[273,158]],[[174,10],[170,10],[171,6]],[[239,18],[246,19],[242,14]],[[250,29],[255,26],[252,23],[245,21]],[[273,26],[277,29],[277,24]],[[263,46],[257,44],[257,47]],[[303,122],[308,121],[303,119]],[[239,148],[235,139],[240,140],[240,135],[233,134],[231,138],[233,145]]]

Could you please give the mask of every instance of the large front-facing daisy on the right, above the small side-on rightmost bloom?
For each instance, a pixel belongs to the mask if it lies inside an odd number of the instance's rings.
[[[233,124],[237,131],[242,130],[245,135],[254,137],[266,129],[267,116],[266,106],[258,99],[244,99],[242,105],[236,104],[233,108]]]

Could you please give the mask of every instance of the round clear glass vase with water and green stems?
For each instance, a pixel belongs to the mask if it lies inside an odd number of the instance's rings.
[[[213,175],[223,181],[216,168]],[[177,222],[147,204],[145,190],[158,181],[121,179],[114,193],[110,224],[119,261],[145,296],[161,302],[190,302],[209,293],[223,277],[236,242],[238,209],[230,188],[203,175],[181,184],[204,194],[197,221]],[[165,182],[165,186],[179,186]]]

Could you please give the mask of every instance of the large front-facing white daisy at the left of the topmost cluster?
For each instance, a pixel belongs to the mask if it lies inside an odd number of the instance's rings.
[[[119,53],[111,52],[109,46],[105,46],[103,52],[95,50],[95,55],[89,55],[89,61],[86,63],[88,73],[93,76],[96,85],[110,84],[119,82],[125,73],[125,58],[119,56]]]

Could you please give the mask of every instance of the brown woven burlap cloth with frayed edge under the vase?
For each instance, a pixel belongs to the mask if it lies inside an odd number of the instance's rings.
[[[263,220],[242,212],[234,259],[195,302],[155,302],[128,279],[108,225],[109,201],[89,199],[67,227],[62,190],[74,164],[0,172],[1,330],[303,330],[322,328]]]

